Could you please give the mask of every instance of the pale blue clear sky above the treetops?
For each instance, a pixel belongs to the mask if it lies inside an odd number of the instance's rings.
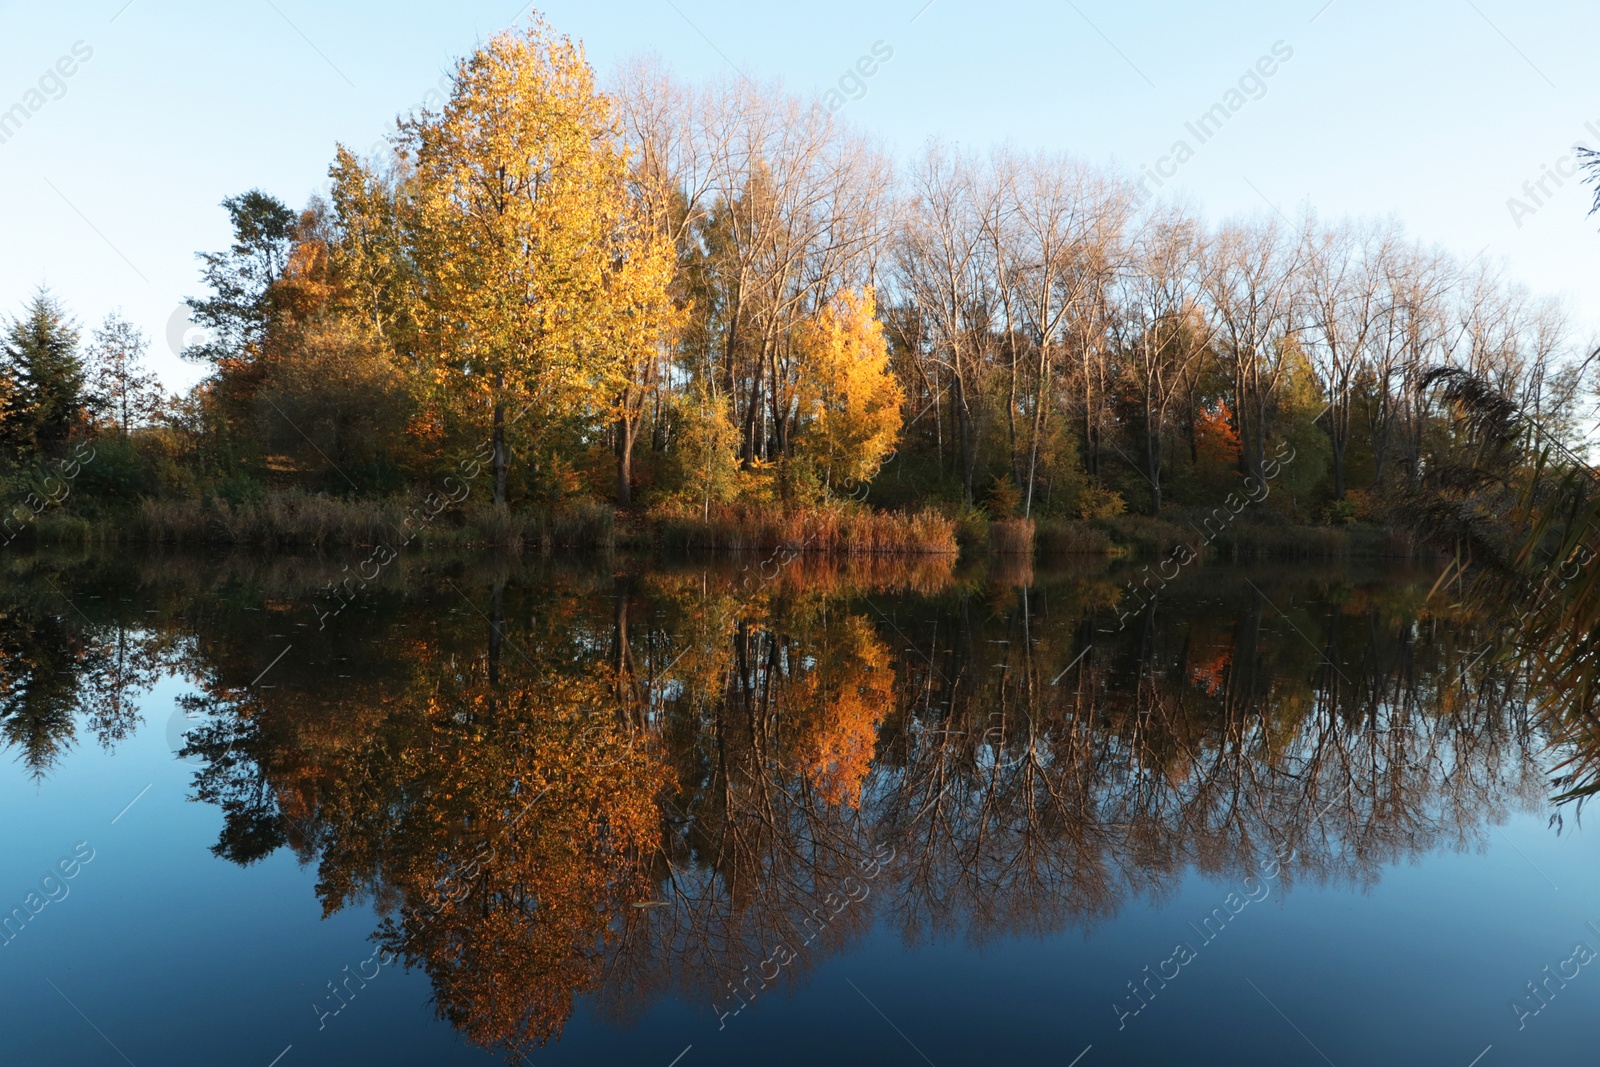
[[[515,0],[0,0],[0,314],[48,285],[85,326],[120,309],[171,387],[224,197],[302,206],[338,142],[366,152]],[[1384,216],[1563,298],[1600,333],[1600,5],[1566,0],[544,0],[605,78],[654,53],[816,94],[899,160],[930,139],[1069,152],[1211,221]],[[891,53],[853,82],[862,56]],[[872,67],[874,64],[866,64]],[[1270,72],[1270,74],[1266,74]],[[1238,96],[1229,99],[1229,91]],[[1221,128],[1198,120],[1238,104]],[[16,104],[26,120],[5,123]],[[1197,134],[1190,125],[1205,134]],[[1187,152],[1178,152],[1176,142]],[[1181,162],[1179,162],[1181,157]],[[1539,182],[1544,182],[1542,190]],[[1152,182],[1154,189],[1154,182]],[[1514,200],[1517,203],[1514,203]],[[1520,205],[1520,206],[1518,206]]]

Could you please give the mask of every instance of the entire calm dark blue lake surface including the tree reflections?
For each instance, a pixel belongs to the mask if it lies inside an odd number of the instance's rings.
[[[0,1062],[1590,1062],[1432,571],[741,566],[6,560]]]

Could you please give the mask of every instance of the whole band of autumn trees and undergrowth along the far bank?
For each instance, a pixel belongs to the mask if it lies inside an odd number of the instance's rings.
[[[1442,368],[1582,448],[1566,310],[1392,221],[893,160],[538,14],[448,86],[304,208],[222,202],[184,394],[118,312],[0,323],[5,544],[1416,557]]]

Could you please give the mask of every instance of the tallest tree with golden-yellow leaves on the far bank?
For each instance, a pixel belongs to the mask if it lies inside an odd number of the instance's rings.
[[[525,413],[528,438],[614,418],[629,362],[667,325],[672,250],[638,218],[582,48],[538,16],[462,59],[443,109],[400,130],[434,386],[488,416],[504,504]]]

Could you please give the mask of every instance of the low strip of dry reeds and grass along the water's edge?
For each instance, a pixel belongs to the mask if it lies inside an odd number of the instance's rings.
[[[936,512],[880,512],[834,506],[803,512],[726,507],[709,518],[619,514],[589,504],[566,510],[510,510],[464,504],[408,533],[403,501],[352,501],[299,491],[259,501],[142,501],[101,517],[42,512],[16,531],[18,547],[179,545],[320,552],[387,545],[394,550],[509,549],[514,552],[650,550],[670,555],[773,553],[837,557],[1059,557],[1208,561],[1293,558],[1434,558],[1445,550],[1386,526],[1294,526],[1237,522],[1214,512],[1168,509],[1162,518],[950,518]],[[1208,525],[1210,523],[1210,525]]]

